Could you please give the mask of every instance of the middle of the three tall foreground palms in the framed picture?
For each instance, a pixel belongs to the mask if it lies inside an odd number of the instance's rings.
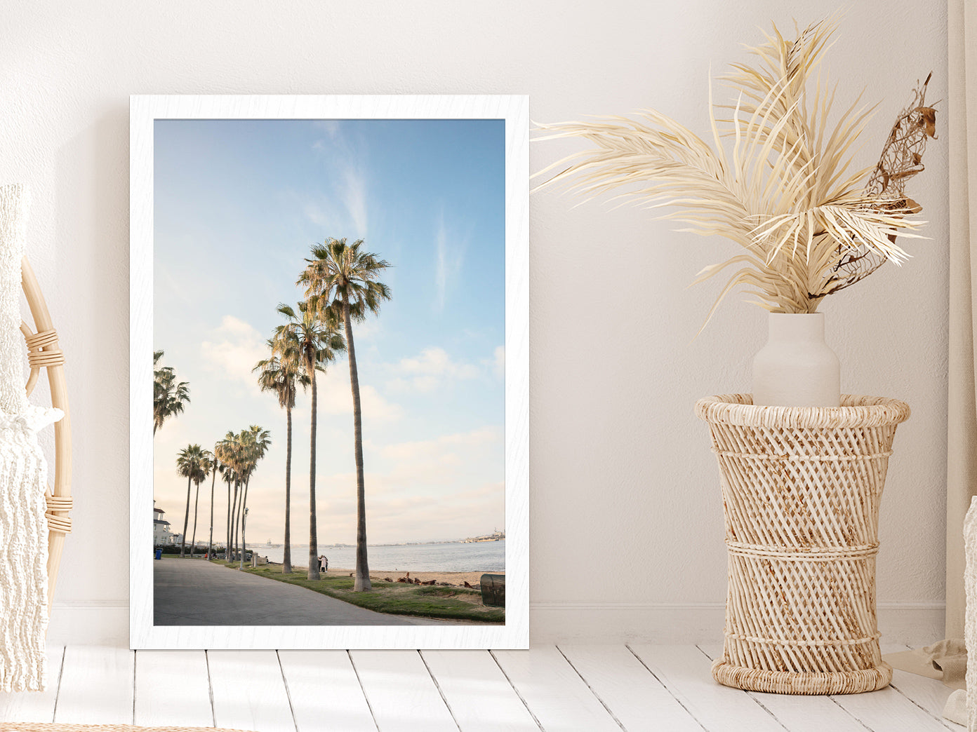
[[[325,371],[325,364],[336,357],[336,352],[344,350],[346,344],[339,334],[336,320],[319,318],[315,300],[312,303],[299,303],[300,315],[289,305],[278,305],[278,312],[288,318],[288,322],[275,329],[277,344],[297,346],[305,373],[312,386],[312,424],[310,427],[309,454],[309,579],[319,580],[319,536],[316,530],[316,411],[318,392],[316,391],[316,372]],[[282,346],[284,347],[284,346]],[[284,352],[284,351],[282,351]],[[281,356],[281,353],[278,353]]]

